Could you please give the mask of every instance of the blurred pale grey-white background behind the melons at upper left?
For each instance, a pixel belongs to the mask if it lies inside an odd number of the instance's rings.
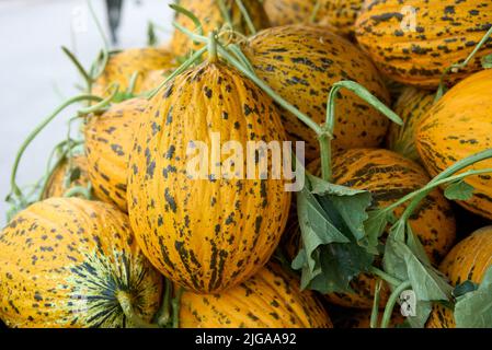
[[[105,36],[117,35],[114,48],[146,45],[149,21],[160,27],[156,34],[165,43],[172,33],[171,2],[91,1]],[[0,0],[0,226],[5,224],[4,198],[19,147],[58,105],[79,93],[80,75],[60,47],[67,46],[89,67],[102,44],[85,0]],[[43,176],[50,151],[66,138],[73,110],[60,114],[30,145],[18,184],[30,185]]]

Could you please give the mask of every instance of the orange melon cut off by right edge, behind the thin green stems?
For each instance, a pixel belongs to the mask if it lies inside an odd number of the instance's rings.
[[[423,164],[435,176],[456,162],[492,149],[492,70],[483,70],[449,90],[416,129],[416,149]],[[466,168],[492,168],[485,160]],[[471,199],[458,203],[476,214],[492,219],[492,174],[469,176]]]

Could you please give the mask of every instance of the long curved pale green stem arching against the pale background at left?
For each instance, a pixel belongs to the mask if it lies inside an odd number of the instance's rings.
[[[68,106],[72,105],[75,103],[81,102],[81,101],[99,101],[100,102],[101,100],[102,100],[101,97],[90,95],[90,94],[82,94],[82,95],[75,96],[75,97],[68,100],[67,102],[62,103],[58,108],[55,109],[55,112],[53,114],[50,114],[33,131],[31,131],[31,133],[27,136],[27,138],[24,140],[24,142],[21,144],[21,148],[19,149],[18,154],[15,155],[15,161],[14,161],[14,164],[12,167],[12,173],[10,176],[11,194],[13,192],[15,196],[18,196],[20,198],[22,205],[25,205],[25,202],[24,202],[24,199],[22,196],[22,191],[15,182],[15,177],[18,174],[19,164],[20,164],[21,159],[22,159],[25,150],[27,149],[27,147],[37,137],[37,135],[39,135],[39,132],[49,122],[52,122],[52,120],[55,119],[58,114],[60,114]]]

